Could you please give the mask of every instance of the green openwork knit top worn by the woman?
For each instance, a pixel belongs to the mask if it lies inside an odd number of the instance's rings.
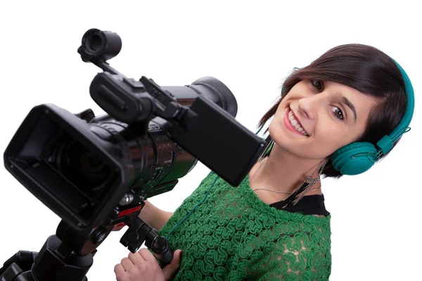
[[[216,177],[210,172],[160,230],[172,249],[182,250],[174,280],[328,280],[331,216],[269,207],[248,176],[238,187],[218,178],[205,201],[172,231]]]

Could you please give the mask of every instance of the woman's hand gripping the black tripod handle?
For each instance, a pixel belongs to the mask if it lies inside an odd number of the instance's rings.
[[[174,251],[173,259],[165,268],[155,256],[146,248],[136,253],[130,252],[127,258],[115,266],[117,281],[169,281],[172,275],[179,270],[181,250]]]

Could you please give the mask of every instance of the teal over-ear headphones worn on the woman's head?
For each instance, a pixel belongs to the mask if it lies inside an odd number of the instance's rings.
[[[345,145],[331,155],[331,163],[334,169],[343,175],[357,175],[368,171],[381,157],[392,149],[393,143],[410,131],[409,124],[414,112],[415,100],[414,90],[411,81],[403,68],[395,61],[404,79],[404,89],[406,91],[407,105],[404,117],[390,135],[383,136],[375,145],[366,142],[355,142]]]

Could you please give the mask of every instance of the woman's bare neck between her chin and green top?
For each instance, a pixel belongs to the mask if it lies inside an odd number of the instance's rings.
[[[250,187],[266,188],[282,192],[295,192],[305,179],[310,176],[323,162],[323,159],[305,159],[292,155],[290,152],[281,149],[274,143],[269,157],[262,159],[262,163],[255,164],[250,170]],[[318,174],[314,174],[316,178]],[[252,177],[252,178],[251,178]],[[319,188],[320,181],[312,186],[312,189]],[[271,192],[268,190],[256,190],[259,197],[264,201],[281,201],[289,194]],[[321,194],[321,189],[309,191],[307,195]]]

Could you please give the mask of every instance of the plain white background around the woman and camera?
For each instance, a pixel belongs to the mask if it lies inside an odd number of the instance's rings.
[[[422,22],[411,3],[2,1],[1,153],[35,105],[104,113],[88,91],[101,70],[77,53],[82,35],[93,27],[120,34],[122,51],[109,62],[127,77],[145,75],[162,86],[191,84],[204,76],[220,79],[236,96],[236,119],[254,132],[293,67],[339,44],[370,44],[395,58],[411,77],[413,129],[366,174],[323,181],[332,214],[330,280],[421,280]],[[60,218],[1,166],[3,263],[20,249],[39,251]],[[172,192],[151,202],[174,211],[207,172],[198,164]],[[89,280],[115,280],[113,268],[128,254],[119,242],[123,233],[112,233],[98,247]]]

